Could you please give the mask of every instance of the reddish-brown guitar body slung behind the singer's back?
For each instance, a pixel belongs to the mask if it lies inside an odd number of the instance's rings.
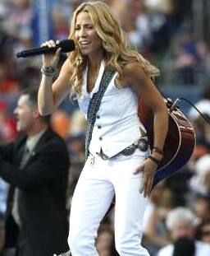
[[[153,186],[173,175],[189,161],[195,147],[195,134],[192,124],[173,102],[166,100],[169,114],[169,126],[164,145],[164,157],[155,173]],[[153,112],[139,99],[139,119],[148,133],[150,148],[153,148]]]

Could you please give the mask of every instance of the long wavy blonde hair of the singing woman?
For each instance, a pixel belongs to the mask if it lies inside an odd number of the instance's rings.
[[[74,12],[71,21],[71,34],[69,38],[75,40],[75,22],[80,12],[88,12],[98,36],[103,41],[104,61],[108,68],[114,68],[118,73],[116,86],[122,87],[122,68],[127,64],[138,61],[148,77],[159,75],[157,67],[151,65],[136,50],[131,49],[126,33],[121,29],[119,22],[111,12],[107,4],[103,2],[84,2]],[[87,65],[87,57],[80,52],[79,45],[75,41],[75,51],[69,54],[73,74],[71,86],[76,95],[81,95],[82,74]]]

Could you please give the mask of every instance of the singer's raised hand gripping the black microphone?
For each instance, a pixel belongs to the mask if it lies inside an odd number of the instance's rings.
[[[41,44],[41,46],[56,47],[59,41],[48,40]],[[60,58],[61,48],[58,48],[55,54],[43,54],[43,67],[57,68],[57,64]]]

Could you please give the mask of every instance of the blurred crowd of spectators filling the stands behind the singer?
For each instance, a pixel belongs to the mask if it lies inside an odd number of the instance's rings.
[[[70,31],[72,12],[83,1],[52,1],[52,38],[64,40]],[[208,42],[194,35],[191,1],[176,0],[106,0],[121,21],[132,44],[157,65],[162,76],[157,85],[185,86],[186,92],[202,88],[194,95],[196,106],[210,119],[210,52]],[[38,86],[40,57],[16,58],[16,52],[34,46],[33,0],[0,2],[0,143],[17,137],[13,109],[20,91]],[[66,56],[62,56],[64,59]],[[178,89],[179,91],[179,89]],[[179,91],[182,95],[183,91]],[[185,97],[187,95],[185,94]],[[144,220],[144,246],[152,256],[179,237],[179,229],[210,244],[210,123],[189,110],[197,146],[190,161],[176,175],[158,184],[151,194]],[[71,158],[68,206],[84,164],[84,116],[76,102],[68,99],[52,114],[52,127],[66,139]],[[0,179],[1,241],[7,184]],[[98,231],[100,256],[114,256],[113,212]],[[182,218],[180,219],[180,215]],[[174,234],[176,232],[177,234]],[[71,231],[71,230],[70,230]],[[190,236],[189,235],[189,236]],[[160,252],[160,251],[159,251]],[[160,256],[164,254],[159,254]],[[167,255],[167,254],[166,254]],[[203,254],[204,255],[204,254]]]

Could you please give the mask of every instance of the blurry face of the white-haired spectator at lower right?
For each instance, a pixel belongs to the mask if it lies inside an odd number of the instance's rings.
[[[194,238],[194,226],[191,223],[180,221],[171,230],[171,237],[173,240],[177,240],[181,237],[187,237],[189,239]]]

